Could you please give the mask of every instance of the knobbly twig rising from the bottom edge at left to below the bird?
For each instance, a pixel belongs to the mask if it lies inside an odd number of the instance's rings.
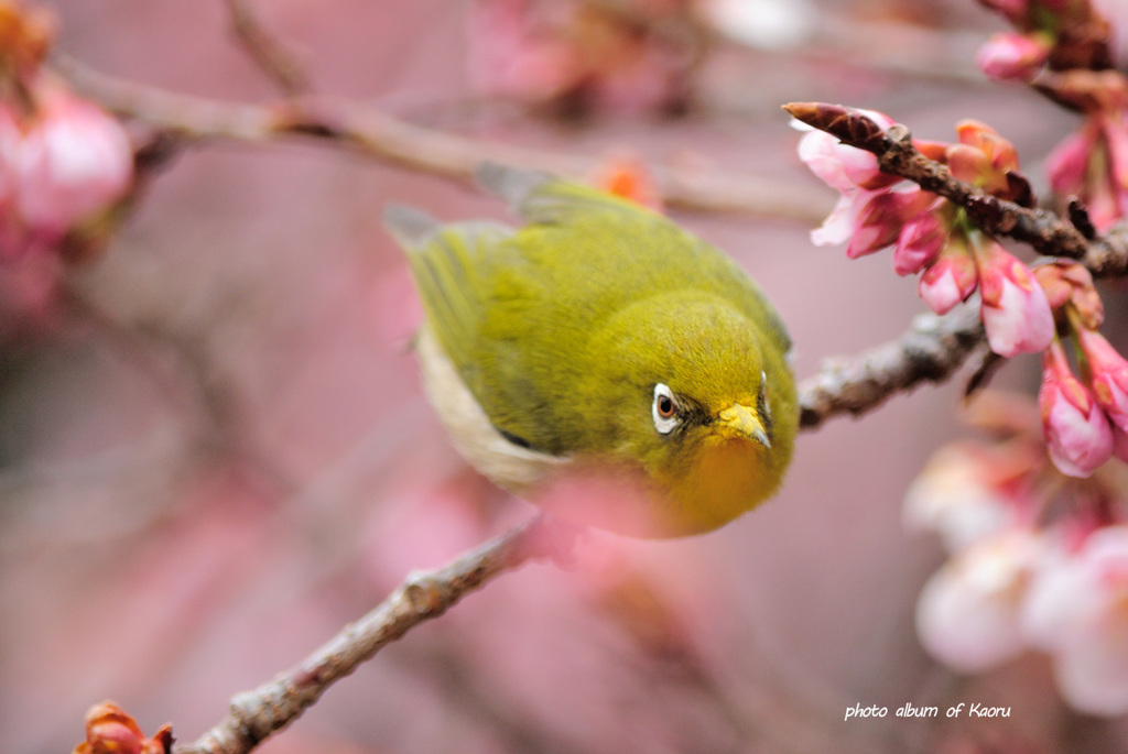
[[[336,681],[409,629],[438,618],[494,577],[541,558],[566,559],[581,530],[538,516],[452,564],[413,574],[355,623],[273,681],[237,694],[227,717],[176,754],[246,754],[298,719]]]

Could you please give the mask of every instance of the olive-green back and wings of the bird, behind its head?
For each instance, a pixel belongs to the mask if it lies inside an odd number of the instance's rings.
[[[430,327],[511,438],[553,454],[599,442],[592,393],[615,390],[632,354],[588,344],[650,298],[700,291],[747,317],[775,353],[790,348],[774,308],[735,263],[666,218],[547,177],[518,204],[529,221],[520,230],[447,225],[409,249]]]

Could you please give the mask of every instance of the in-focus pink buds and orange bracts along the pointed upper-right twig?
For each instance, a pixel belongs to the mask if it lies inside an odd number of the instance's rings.
[[[864,112],[888,128],[893,121]],[[1015,180],[1019,158],[1010,142],[975,121],[957,126],[954,144],[914,142],[952,175],[1003,198],[1025,186]],[[841,196],[821,228],[811,232],[817,246],[848,242],[856,258],[893,249],[898,275],[920,274],[918,291],[929,309],[944,314],[979,291],[980,312],[992,351],[1001,356],[1038,353],[1054,338],[1054,316],[1031,270],[990,234],[978,229],[963,209],[916,184],[878,168],[870,152],[811,131],[799,144],[803,162]]]

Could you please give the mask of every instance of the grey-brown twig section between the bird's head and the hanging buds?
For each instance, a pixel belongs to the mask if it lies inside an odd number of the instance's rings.
[[[897,340],[851,358],[828,360],[799,385],[800,427],[813,429],[841,414],[870,411],[922,382],[943,382],[984,343],[973,308],[946,317],[919,314]]]

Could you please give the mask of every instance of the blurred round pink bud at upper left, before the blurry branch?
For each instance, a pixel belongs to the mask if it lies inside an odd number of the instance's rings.
[[[121,124],[70,95],[49,100],[19,152],[19,213],[35,233],[59,238],[108,207],[130,186],[133,150]]]

